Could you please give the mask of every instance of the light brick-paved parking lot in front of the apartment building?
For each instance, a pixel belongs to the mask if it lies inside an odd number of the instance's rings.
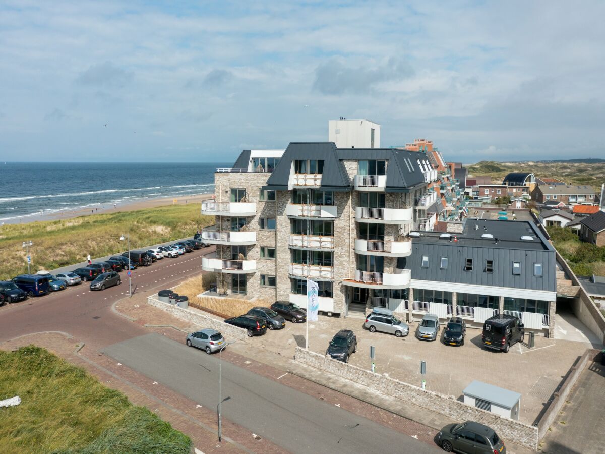
[[[486,350],[481,331],[467,329],[463,346],[446,346],[442,341],[420,341],[414,337],[417,323],[410,325],[410,335],[396,338],[384,333],[370,333],[360,318],[319,317],[309,323],[309,348],[325,353],[339,329],[351,329],[358,349],[350,363],[370,369],[370,346],[376,349],[375,371],[420,386],[420,361],[427,362],[427,389],[454,398],[473,380],[494,384],[521,393],[520,421],[534,424],[543,405],[566,375],[574,361],[586,350],[586,344],[568,340],[536,337],[535,346],[515,344],[508,354]],[[295,347],[305,345],[305,324],[287,323],[280,331],[267,331],[250,340],[284,356],[292,356]],[[443,334],[443,326],[439,331]],[[526,336],[526,341],[528,336]]]

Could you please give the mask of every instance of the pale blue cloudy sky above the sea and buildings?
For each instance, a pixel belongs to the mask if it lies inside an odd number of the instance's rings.
[[[225,162],[329,119],[605,158],[605,2],[0,0],[0,160]]]

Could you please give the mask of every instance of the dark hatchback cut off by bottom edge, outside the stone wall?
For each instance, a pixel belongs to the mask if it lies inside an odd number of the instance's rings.
[[[446,452],[465,454],[506,454],[506,446],[488,426],[466,421],[448,424],[437,433],[437,444]]]

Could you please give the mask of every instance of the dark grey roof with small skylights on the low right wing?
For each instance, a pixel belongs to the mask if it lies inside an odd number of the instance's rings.
[[[485,233],[494,238],[482,238]],[[399,258],[397,268],[410,269],[415,280],[550,292],[557,289],[555,251],[533,222],[469,219],[462,234],[451,234],[451,241],[440,235],[424,232],[414,237],[413,254]],[[533,240],[521,240],[523,235]],[[423,255],[429,257],[428,268],[422,268]],[[441,257],[448,257],[447,269],[440,268]],[[467,258],[473,259],[473,271],[464,270]],[[486,260],[493,261],[494,272],[485,272]],[[520,275],[512,274],[512,262],[521,263]],[[534,263],[542,264],[543,277],[534,276]]]

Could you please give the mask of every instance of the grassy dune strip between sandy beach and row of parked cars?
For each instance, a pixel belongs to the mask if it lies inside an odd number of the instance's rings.
[[[168,205],[134,211],[91,214],[70,219],[9,224],[0,227],[0,280],[27,273],[25,241],[30,247],[31,272],[55,269],[127,250],[120,235],[130,234],[132,250],[193,236],[214,224],[200,214],[200,204]]]

